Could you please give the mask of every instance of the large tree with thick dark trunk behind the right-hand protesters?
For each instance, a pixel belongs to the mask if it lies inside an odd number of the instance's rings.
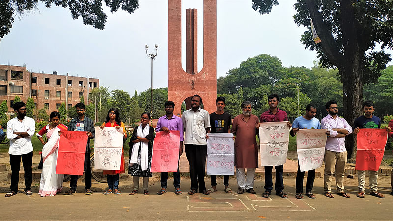
[[[269,13],[278,0],[253,0],[253,9]],[[306,48],[315,50],[323,67],[337,67],[343,84],[344,118],[350,125],[363,114],[363,85],[375,83],[391,60],[390,54],[376,51],[393,47],[392,0],[298,0],[297,25],[305,26],[301,38]],[[322,42],[315,44],[310,21]],[[356,159],[356,138],[346,139],[351,150],[348,159]]]

